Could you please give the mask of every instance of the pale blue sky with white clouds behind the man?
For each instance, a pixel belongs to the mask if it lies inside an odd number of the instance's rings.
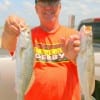
[[[60,23],[68,25],[70,15],[75,15],[76,26],[82,19],[100,17],[100,0],[61,0]],[[30,26],[39,24],[34,0],[0,0],[0,27],[10,15],[24,18]]]

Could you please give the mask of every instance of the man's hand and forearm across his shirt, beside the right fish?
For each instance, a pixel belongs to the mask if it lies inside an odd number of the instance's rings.
[[[62,50],[65,57],[76,64],[76,58],[80,51],[80,37],[79,34],[73,34],[68,39],[62,38]]]

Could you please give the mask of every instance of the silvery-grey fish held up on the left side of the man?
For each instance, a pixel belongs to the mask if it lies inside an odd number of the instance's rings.
[[[16,91],[17,100],[24,100],[33,73],[34,51],[29,28],[20,29],[16,50]]]

